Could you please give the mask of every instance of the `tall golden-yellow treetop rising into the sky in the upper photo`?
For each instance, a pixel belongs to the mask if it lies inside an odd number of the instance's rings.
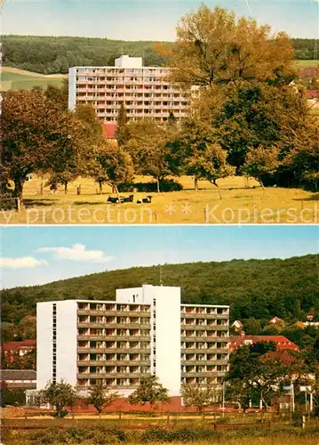
[[[162,48],[171,81],[186,89],[244,79],[288,85],[296,73],[291,42],[284,33],[270,33],[270,26],[256,20],[236,20],[235,12],[202,4],[179,20],[175,43]]]

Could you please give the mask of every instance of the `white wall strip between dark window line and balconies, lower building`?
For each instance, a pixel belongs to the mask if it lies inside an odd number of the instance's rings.
[[[76,385],[77,374],[77,303],[57,303],[57,382]]]

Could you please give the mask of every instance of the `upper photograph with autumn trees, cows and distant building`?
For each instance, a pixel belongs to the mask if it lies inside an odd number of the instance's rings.
[[[3,226],[319,222],[319,0],[0,4]]]

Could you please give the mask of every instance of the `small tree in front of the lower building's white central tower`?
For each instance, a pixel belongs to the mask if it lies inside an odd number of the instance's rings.
[[[141,378],[140,386],[129,397],[129,402],[132,405],[149,403],[149,411],[152,410],[155,403],[169,402],[170,400],[168,390],[158,382],[155,375]]]

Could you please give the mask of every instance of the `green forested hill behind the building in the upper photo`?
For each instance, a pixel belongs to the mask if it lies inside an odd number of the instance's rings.
[[[291,41],[296,59],[317,57],[315,39],[293,38]],[[155,53],[154,44],[156,42],[93,37],[3,36],[3,64],[43,74],[67,73],[69,67],[76,65],[114,65],[116,57],[124,53],[143,56],[146,66],[163,65],[163,58]]]

